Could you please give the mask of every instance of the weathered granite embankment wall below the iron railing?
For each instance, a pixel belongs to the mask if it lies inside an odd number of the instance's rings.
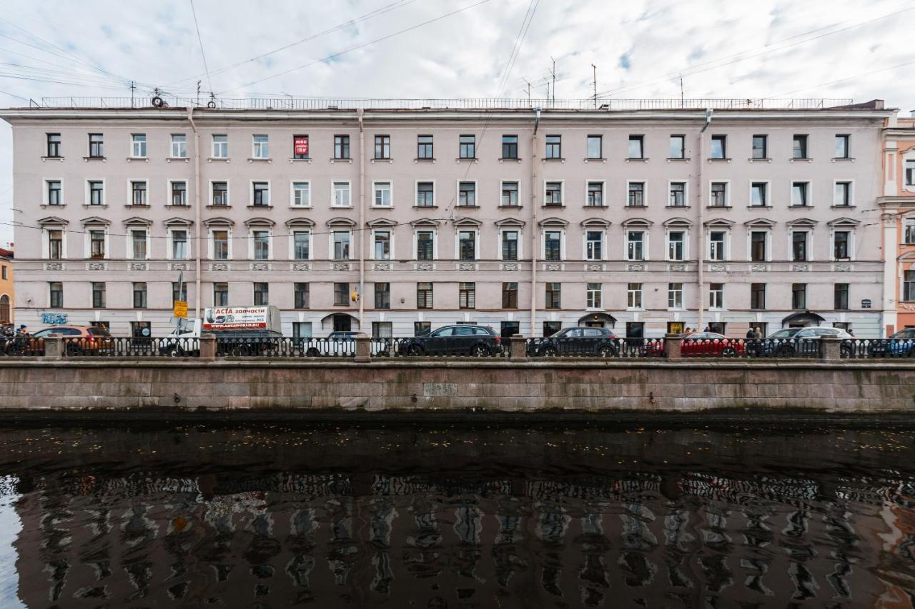
[[[915,412],[915,363],[0,360],[0,411],[132,409],[902,413]]]

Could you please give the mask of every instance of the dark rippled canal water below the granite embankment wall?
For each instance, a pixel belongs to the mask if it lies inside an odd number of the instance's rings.
[[[2,607],[910,607],[915,433],[0,432]]]

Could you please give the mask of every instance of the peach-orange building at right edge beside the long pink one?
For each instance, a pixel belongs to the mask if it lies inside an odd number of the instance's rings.
[[[915,327],[915,118],[891,117],[884,130],[884,307],[886,332]]]

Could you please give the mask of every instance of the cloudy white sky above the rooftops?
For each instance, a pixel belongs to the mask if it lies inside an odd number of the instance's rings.
[[[0,104],[129,98],[131,80],[144,98],[195,95],[198,80],[221,98],[523,98],[528,82],[544,97],[555,59],[557,99],[590,96],[595,64],[611,98],[679,97],[682,75],[687,98],[880,98],[908,112],[912,22],[910,0],[7,0]],[[0,245],[14,205],[35,204],[12,193],[3,123]]]

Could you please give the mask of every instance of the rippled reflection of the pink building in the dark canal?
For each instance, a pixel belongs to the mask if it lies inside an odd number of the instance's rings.
[[[898,470],[708,461],[512,475],[398,472],[381,459],[317,472],[255,456],[5,465],[22,521],[18,598],[61,609],[903,607],[915,591],[915,479]]]

